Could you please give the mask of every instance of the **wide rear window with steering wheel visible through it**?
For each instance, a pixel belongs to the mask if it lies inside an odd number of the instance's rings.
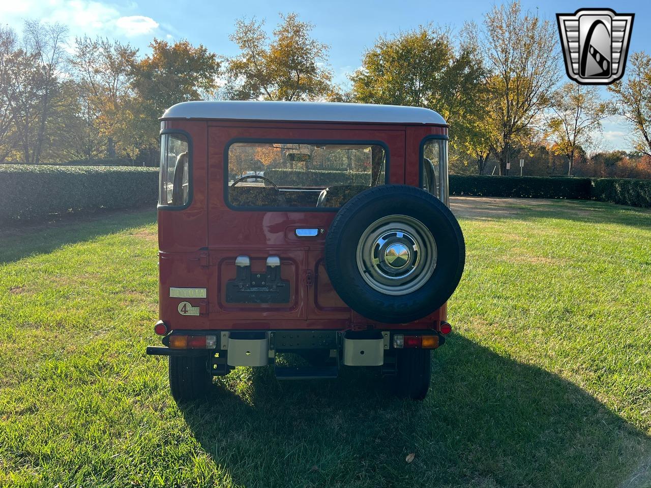
[[[385,183],[387,154],[372,143],[234,142],[227,201],[235,207],[339,208]]]

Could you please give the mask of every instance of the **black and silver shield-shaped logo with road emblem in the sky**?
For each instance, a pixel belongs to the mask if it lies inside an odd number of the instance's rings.
[[[556,14],[568,76],[581,85],[609,85],[624,76],[634,16],[610,8]]]

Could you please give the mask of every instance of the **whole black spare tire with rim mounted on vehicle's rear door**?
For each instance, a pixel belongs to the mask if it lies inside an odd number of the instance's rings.
[[[359,193],[340,208],[326,237],[326,269],[355,312],[384,323],[431,314],[464,271],[465,243],[452,212],[408,185]]]

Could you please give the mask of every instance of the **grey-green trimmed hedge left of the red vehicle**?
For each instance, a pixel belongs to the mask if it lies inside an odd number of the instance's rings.
[[[0,221],[156,206],[158,168],[0,165]]]

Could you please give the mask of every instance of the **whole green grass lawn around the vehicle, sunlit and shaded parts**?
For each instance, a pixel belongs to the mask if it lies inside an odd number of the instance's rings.
[[[152,211],[0,231],[0,485],[651,486],[651,212],[457,199],[426,401],[238,368],[177,407]],[[405,458],[415,454],[413,462]]]

